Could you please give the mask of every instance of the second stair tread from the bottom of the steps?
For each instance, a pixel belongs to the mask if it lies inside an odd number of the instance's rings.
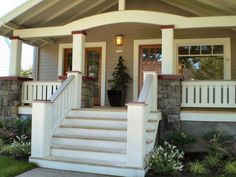
[[[65,150],[91,151],[91,152],[101,152],[101,153],[126,154],[126,149],[98,148],[98,147],[89,147],[89,146],[72,146],[72,145],[60,145],[60,144],[51,144],[51,149],[65,149]]]

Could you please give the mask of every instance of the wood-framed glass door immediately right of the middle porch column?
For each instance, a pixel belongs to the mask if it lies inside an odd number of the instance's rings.
[[[87,76],[96,78],[93,97],[95,106],[100,105],[101,99],[101,56],[101,47],[85,49],[85,74]]]

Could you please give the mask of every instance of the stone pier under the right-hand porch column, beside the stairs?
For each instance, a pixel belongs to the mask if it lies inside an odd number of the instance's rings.
[[[180,131],[182,75],[158,76],[158,109],[162,112],[160,136]]]

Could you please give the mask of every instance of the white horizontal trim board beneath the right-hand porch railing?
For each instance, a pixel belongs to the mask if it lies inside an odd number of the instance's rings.
[[[236,122],[236,112],[227,111],[181,111],[181,121]]]

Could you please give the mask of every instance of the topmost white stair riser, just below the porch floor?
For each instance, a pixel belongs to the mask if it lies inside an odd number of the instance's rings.
[[[68,117],[94,117],[96,118],[120,118],[127,119],[127,112],[106,112],[106,111],[70,111]]]

